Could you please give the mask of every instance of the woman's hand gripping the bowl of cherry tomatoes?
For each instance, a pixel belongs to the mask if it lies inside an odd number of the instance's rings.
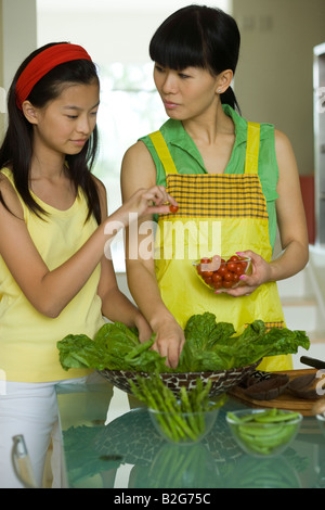
[[[242,281],[240,286],[237,286],[236,289],[217,291],[216,294],[224,292],[234,297],[250,295],[262,283],[271,281],[272,268],[263,257],[251,251],[237,252],[237,255],[250,257],[252,267],[251,275],[242,275],[239,277]]]

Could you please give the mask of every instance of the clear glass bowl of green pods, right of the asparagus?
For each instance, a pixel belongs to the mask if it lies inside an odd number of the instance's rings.
[[[226,422],[240,448],[253,457],[272,457],[282,454],[296,437],[302,415],[277,410],[274,421],[262,422],[274,409],[242,409],[227,412]],[[295,418],[289,419],[290,415]],[[284,421],[277,421],[286,418]]]

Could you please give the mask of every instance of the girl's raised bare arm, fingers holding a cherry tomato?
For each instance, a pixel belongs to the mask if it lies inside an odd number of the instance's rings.
[[[5,177],[0,191],[10,212],[0,204],[0,254],[27,299],[41,314],[55,318],[82,289],[103,258],[106,243],[129,222],[130,213],[169,211],[161,204],[174,203],[164,187],[138,190],[130,200],[104,219],[81,248],[54,270],[49,270],[38,253],[23,219],[20,200]],[[157,205],[151,206],[152,202]],[[13,213],[13,214],[12,214]]]

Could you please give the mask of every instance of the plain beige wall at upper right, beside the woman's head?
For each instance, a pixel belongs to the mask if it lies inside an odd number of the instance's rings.
[[[242,33],[235,89],[244,116],[290,139],[301,175],[314,171],[313,47],[325,41],[324,0],[233,0]]]

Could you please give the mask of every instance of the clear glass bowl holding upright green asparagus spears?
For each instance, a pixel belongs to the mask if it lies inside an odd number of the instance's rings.
[[[212,429],[219,408],[202,412],[166,412],[148,408],[156,431],[169,443],[199,443]]]

